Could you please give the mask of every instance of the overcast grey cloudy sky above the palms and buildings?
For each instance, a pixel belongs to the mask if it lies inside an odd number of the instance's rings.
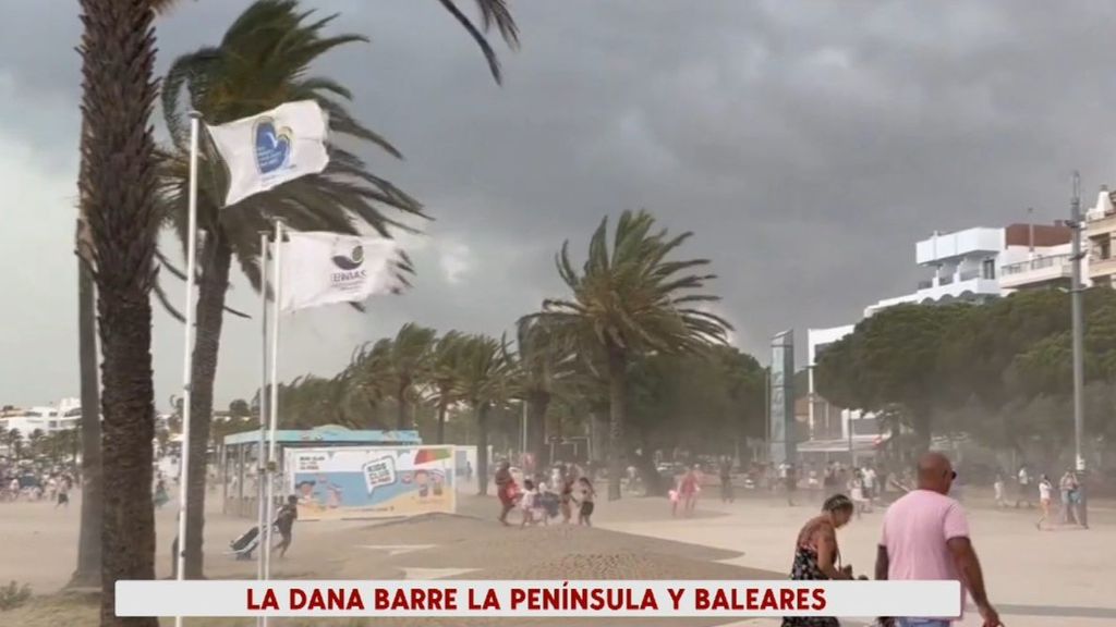
[[[472,3],[462,0],[472,11]],[[158,67],[217,44],[247,0],[182,2]],[[1067,211],[1116,179],[1116,3],[1039,0],[512,0],[506,85],[434,0],[319,0],[372,44],[319,74],[406,155],[374,170],[436,218],[408,239],[415,289],[283,320],[282,378],[333,374],[415,320],[500,334],[561,293],[602,216],[646,208],[696,234],[734,341],[854,322],[911,291],[914,242]],[[76,2],[0,0],[0,403],[78,390],[73,250],[80,32]],[[181,284],[171,286],[181,300]],[[254,312],[237,281],[230,303]],[[225,324],[218,404],[259,384],[258,321]],[[180,325],[155,317],[157,403],[181,380]]]

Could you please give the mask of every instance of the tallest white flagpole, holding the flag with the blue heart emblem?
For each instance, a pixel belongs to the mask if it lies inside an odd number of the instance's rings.
[[[187,196],[186,234],[186,300],[185,332],[182,356],[182,447],[179,454],[179,554],[175,556],[175,577],[184,580],[186,570],[186,495],[190,492],[190,403],[193,386],[193,331],[194,331],[194,274],[198,263],[198,133],[201,114],[190,113],[190,191]],[[182,627],[182,617],[174,617],[175,627]]]

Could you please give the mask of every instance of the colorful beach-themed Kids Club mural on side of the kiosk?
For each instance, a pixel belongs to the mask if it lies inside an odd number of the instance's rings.
[[[453,446],[288,448],[288,494],[299,520],[453,513]]]

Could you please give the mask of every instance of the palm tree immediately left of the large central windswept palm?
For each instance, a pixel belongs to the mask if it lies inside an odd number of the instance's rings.
[[[508,354],[516,394],[527,403],[527,448],[536,469],[549,463],[546,455],[547,407],[556,388],[574,375],[574,350],[568,338],[554,332],[538,317],[525,317],[516,326],[518,351]]]

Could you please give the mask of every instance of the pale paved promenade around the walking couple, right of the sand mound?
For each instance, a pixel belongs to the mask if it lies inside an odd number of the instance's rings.
[[[667,507],[665,501],[663,507]],[[777,499],[749,498],[732,504],[705,499],[700,507],[721,515],[603,524],[625,533],[739,551],[741,556],[727,563],[786,572],[798,530],[818,505],[789,508]],[[992,602],[1007,625],[1116,625],[1116,599],[1110,592],[1116,511],[1110,507],[1091,510],[1093,528],[1088,531],[1038,531],[1033,510],[998,511],[979,500],[966,502],[966,507]],[[845,562],[857,573],[872,576],[882,519],[883,512],[876,510],[839,532]],[[975,612],[970,611],[961,625],[979,624]]]

